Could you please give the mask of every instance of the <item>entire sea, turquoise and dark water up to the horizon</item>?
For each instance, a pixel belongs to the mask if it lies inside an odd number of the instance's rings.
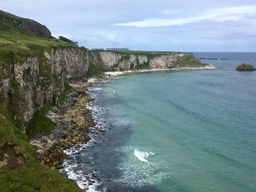
[[[256,53],[194,53],[216,70],[152,72],[89,88],[91,141],[61,172],[86,191],[256,191]]]

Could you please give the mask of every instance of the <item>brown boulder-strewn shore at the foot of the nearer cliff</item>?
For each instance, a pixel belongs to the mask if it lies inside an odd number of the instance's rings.
[[[48,112],[48,118],[56,123],[52,134],[39,134],[31,140],[31,145],[37,148],[39,161],[48,166],[61,168],[61,164],[68,155],[64,150],[78,142],[88,142],[87,135],[90,126],[94,126],[91,112],[86,104],[92,101],[86,89],[91,82],[80,82],[72,85],[66,104],[53,108]]]

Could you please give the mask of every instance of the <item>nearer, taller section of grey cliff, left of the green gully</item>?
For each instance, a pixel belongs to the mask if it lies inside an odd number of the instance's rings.
[[[24,131],[26,122],[43,104],[59,103],[69,80],[86,77],[87,61],[84,50],[69,48],[45,52],[45,61],[35,56],[14,63],[11,74],[0,80],[1,102],[12,109],[13,120],[23,124]]]

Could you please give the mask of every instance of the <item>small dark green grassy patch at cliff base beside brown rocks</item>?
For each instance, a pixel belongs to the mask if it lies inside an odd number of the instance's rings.
[[[50,133],[53,131],[56,124],[46,116],[47,112],[52,108],[52,105],[45,105],[42,107],[42,110],[34,113],[26,127],[26,135],[28,135],[29,138],[34,137],[36,134]]]

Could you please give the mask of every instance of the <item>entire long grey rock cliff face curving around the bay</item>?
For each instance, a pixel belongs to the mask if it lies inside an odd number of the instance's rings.
[[[109,71],[167,69],[192,57],[189,53],[143,55],[72,47],[45,51],[44,55],[43,61],[34,56],[21,64],[13,63],[11,74],[0,80],[2,103],[10,106],[14,121],[22,125],[23,131],[35,111],[43,104],[59,104],[59,96],[68,90],[69,82],[85,79],[91,66]]]

